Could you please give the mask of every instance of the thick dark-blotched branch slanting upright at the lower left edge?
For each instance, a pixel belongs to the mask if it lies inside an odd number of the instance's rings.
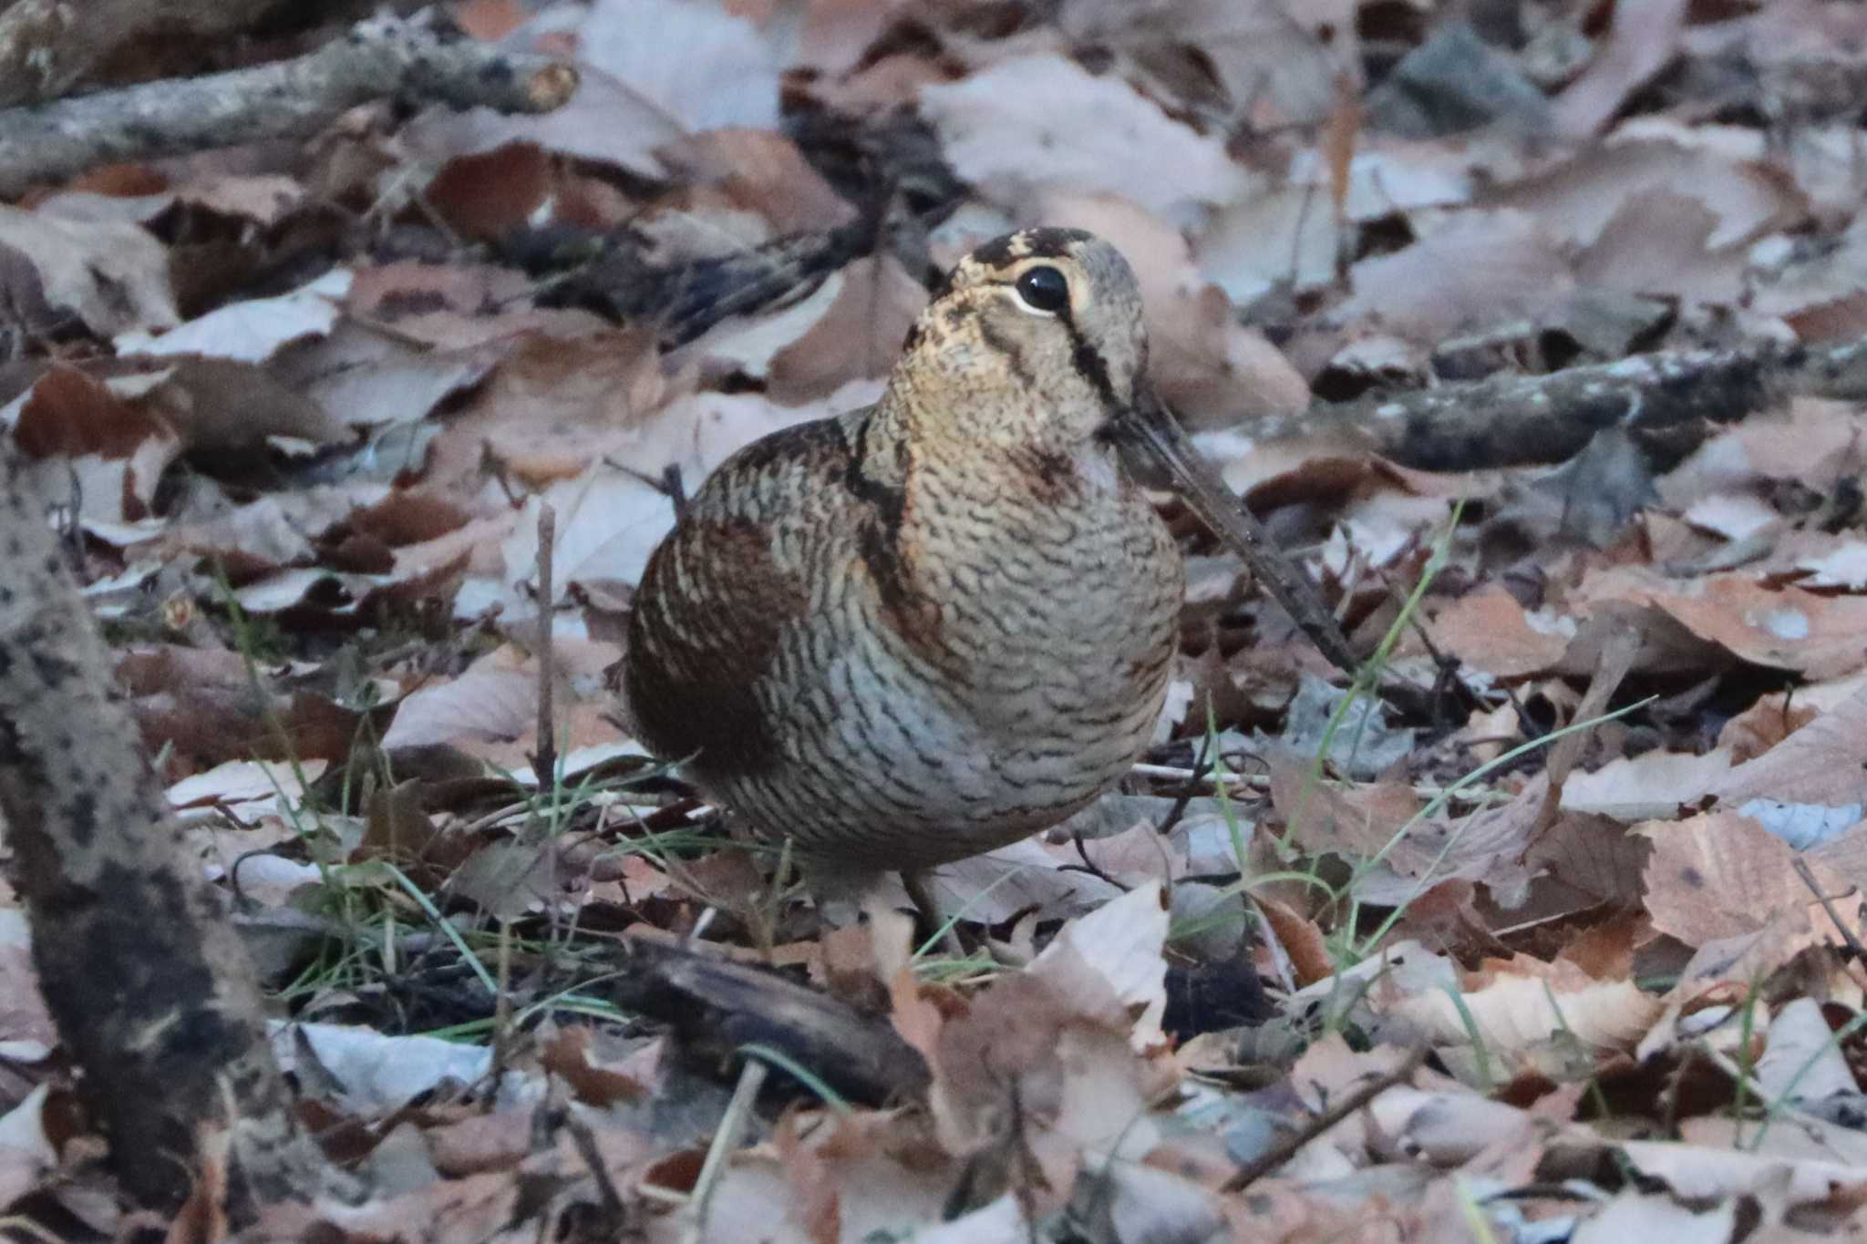
[[[34,964],[123,1188],[175,1209],[228,1134],[228,1203],[321,1188],[252,966],[110,684],[45,505],[0,436],[0,819]]]

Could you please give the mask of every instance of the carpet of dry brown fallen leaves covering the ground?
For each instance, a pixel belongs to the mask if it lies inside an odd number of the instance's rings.
[[[250,1238],[1863,1229],[1861,407],[1434,472],[1333,405],[1858,336],[1848,6],[452,7],[577,101],[0,207],[0,435],[373,1188]],[[1327,684],[1161,494],[1158,742],[935,878],[954,957],[793,884],[607,670],[674,496],[872,401],[1025,224],[1135,259],[1159,390],[1385,647]],[[0,1199],[127,1231],[0,918]],[[657,1009],[696,964],[751,975]],[[812,1061],[780,985],[892,1078]]]

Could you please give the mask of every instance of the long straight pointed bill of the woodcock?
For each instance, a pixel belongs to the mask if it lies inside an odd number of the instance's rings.
[[[1264,524],[1225,487],[1225,479],[1193,448],[1152,386],[1137,386],[1135,407],[1116,420],[1115,431],[1116,444],[1141,459],[1131,464],[1143,474],[1146,466],[1163,472],[1193,513],[1251,565],[1251,573],[1258,576],[1277,604],[1290,612],[1290,617],[1322,655],[1354,675],[1359,662],[1348,647],[1342,629],[1324,608],[1309,574],[1271,543]]]

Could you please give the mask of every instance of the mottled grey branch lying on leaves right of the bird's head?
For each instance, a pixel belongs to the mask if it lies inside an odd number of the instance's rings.
[[[1249,427],[1264,440],[1342,427],[1376,453],[1419,470],[1486,470],[1563,463],[1619,427],[1673,455],[1703,429],[1789,395],[1867,397],[1867,341],[1634,354],[1550,375],[1497,375],[1464,384],[1316,403]]]

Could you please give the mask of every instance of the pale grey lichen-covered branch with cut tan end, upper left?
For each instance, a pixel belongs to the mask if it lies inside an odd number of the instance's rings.
[[[564,62],[379,17],[295,60],[7,108],[0,194],[103,162],[310,134],[345,108],[390,95],[551,112],[575,90],[577,71]]]

